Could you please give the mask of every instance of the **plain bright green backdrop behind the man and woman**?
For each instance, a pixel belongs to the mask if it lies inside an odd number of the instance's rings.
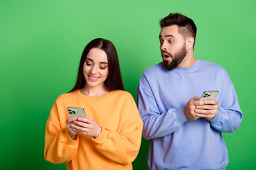
[[[238,94],[244,118],[223,134],[227,169],[255,169],[255,7],[254,0],[1,0],[1,169],[65,169],[43,157],[46,120],[55,98],[74,86],[85,45],[114,43],[136,100],[142,72],[161,62],[159,20],[170,12],[195,21],[196,58],[222,65]],[[148,149],[143,139],[134,169],[146,169]]]

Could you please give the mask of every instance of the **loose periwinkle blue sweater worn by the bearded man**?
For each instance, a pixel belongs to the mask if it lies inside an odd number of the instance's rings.
[[[183,108],[203,91],[218,90],[219,109],[211,121],[187,120]],[[222,132],[235,132],[242,111],[228,73],[197,60],[172,71],[163,62],[146,69],[139,81],[138,108],[149,140],[149,169],[225,169],[228,151]]]

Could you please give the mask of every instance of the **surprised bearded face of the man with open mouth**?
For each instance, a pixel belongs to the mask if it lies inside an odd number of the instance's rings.
[[[161,29],[160,50],[166,69],[172,70],[178,67],[186,57],[186,42],[178,33],[178,26],[168,26]]]

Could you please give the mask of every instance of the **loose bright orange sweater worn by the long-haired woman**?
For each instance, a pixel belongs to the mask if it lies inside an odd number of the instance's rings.
[[[93,138],[78,133],[78,139],[71,140],[65,128],[68,106],[85,108],[85,114],[102,128],[100,135]],[[132,169],[141,139],[142,119],[131,94],[111,91],[92,97],[73,91],[53,103],[44,155],[54,164],[67,163],[67,169]]]

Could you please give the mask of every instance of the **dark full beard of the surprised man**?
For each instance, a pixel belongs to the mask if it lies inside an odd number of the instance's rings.
[[[162,53],[163,52],[167,53],[172,58],[171,62],[170,61],[164,61],[164,67],[166,67],[166,69],[168,69],[170,71],[172,69],[175,69],[176,67],[178,67],[178,65],[181,64],[184,57],[186,57],[186,54],[188,53],[188,51],[186,50],[186,45],[185,44],[183,45],[183,47],[181,47],[181,50],[178,50],[178,52],[176,52],[174,55],[171,55],[171,53],[166,52],[164,50],[161,51],[161,52]]]

